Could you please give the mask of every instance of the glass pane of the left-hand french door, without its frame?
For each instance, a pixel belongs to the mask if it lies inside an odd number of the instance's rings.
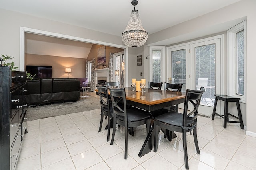
[[[181,91],[186,92],[186,49],[172,51],[171,83],[183,83]]]

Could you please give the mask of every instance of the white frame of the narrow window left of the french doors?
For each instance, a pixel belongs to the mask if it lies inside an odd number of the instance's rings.
[[[149,66],[153,68],[153,51],[154,50],[161,50],[161,82],[165,82],[165,46],[150,46],[149,47]],[[149,69],[149,81],[152,82],[153,80],[153,69]],[[163,86],[162,86],[163,89]]]

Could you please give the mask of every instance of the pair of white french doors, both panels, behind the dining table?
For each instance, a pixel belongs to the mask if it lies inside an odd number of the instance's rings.
[[[220,59],[221,39],[194,41],[179,47],[167,47],[168,79],[172,83],[183,83],[182,92],[186,89],[205,88],[199,113],[211,115],[215,96],[220,94]],[[193,106],[190,106],[192,108]],[[180,108],[183,108],[180,105]]]

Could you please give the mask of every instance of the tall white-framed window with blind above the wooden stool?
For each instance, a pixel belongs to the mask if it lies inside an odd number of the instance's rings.
[[[228,30],[228,95],[246,96],[246,21]]]

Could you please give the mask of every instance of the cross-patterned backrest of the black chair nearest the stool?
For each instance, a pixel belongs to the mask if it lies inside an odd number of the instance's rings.
[[[198,115],[198,108],[201,102],[201,97],[204,92],[205,92],[204,87],[201,87],[200,90],[189,90],[189,89],[186,90],[185,105],[184,105],[184,111],[183,111],[184,127],[190,126],[193,120],[196,121],[197,115]],[[196,101],[194,102],[194,100]],[[188,113],[189,103],[191,103],[194,106],[194,109]],[[192,123],[192,125],[193,124],[194,123]]]

